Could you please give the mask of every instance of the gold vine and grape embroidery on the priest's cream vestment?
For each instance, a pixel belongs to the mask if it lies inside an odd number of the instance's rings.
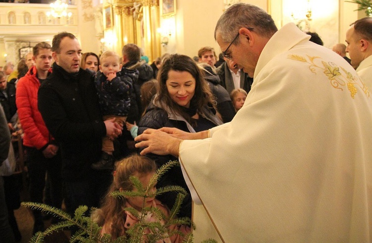
[[[321,65],[318,65],[315,63],[315,59],[321,59],[320,57],[310,57],[309,55],[306,55],[308,57],[302,57],[300,55],[291,54],[288,55],[289,59],[295,60],[295,61],[301,61],[301,62],[307,62],[310,64],[309,69],[311,72],[316,74],[316,68],[319,68],[323,70],[323,73],[328,77],[330,84],[340,90],[344,90],[343,86],[347,86],[347,89],[350,92],[351,98],[354,99],[355,94],[358,92],[357,87],[361,88],[363,92],[367,95],[367,97],[370,97],[370,91],[368,90],[367,86],[364,84],[364,82],[357,76],[353,76],[351,72],[347,71],[342,66],[338,66],[333,62],[325,62],[321,61]],[[342,72],[340,71],[342,70]],[[357,87],[356,87],[357,86]]]

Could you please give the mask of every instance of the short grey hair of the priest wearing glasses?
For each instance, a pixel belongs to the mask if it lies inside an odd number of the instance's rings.
[[[220,32],[222,41],[232,42],[239,29],[244,27],[253,28],[253,32],[267,38],[278,31],[270,14],[260,7],[241,2],[232,5],[222,14],[214,30],[214,39],[217,32]],[[238,42],[239,38],[234,44]]]

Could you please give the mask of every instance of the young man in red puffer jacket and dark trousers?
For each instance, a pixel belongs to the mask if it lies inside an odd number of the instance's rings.
[[[35,66],[19,79],[16,89],[16,105],[24,137],[23,145],[27,152],[30,176],[30,199],[43,202],[45,173],[51,183],[52,206],[61,207],[62,180],[61,156],[59,146],[48,131],[38,110],[38,90],[41,83],[52,73],[52,47],[46,43],[38,43],[33,48]],[[34,233],[44,231],[41,212],[33,211],[35,217]]]

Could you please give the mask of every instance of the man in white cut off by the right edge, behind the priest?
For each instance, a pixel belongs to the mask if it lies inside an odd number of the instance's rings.
[[[346,52],[358,75],[372,89],[372,18],[355,21],[346,32]]]

